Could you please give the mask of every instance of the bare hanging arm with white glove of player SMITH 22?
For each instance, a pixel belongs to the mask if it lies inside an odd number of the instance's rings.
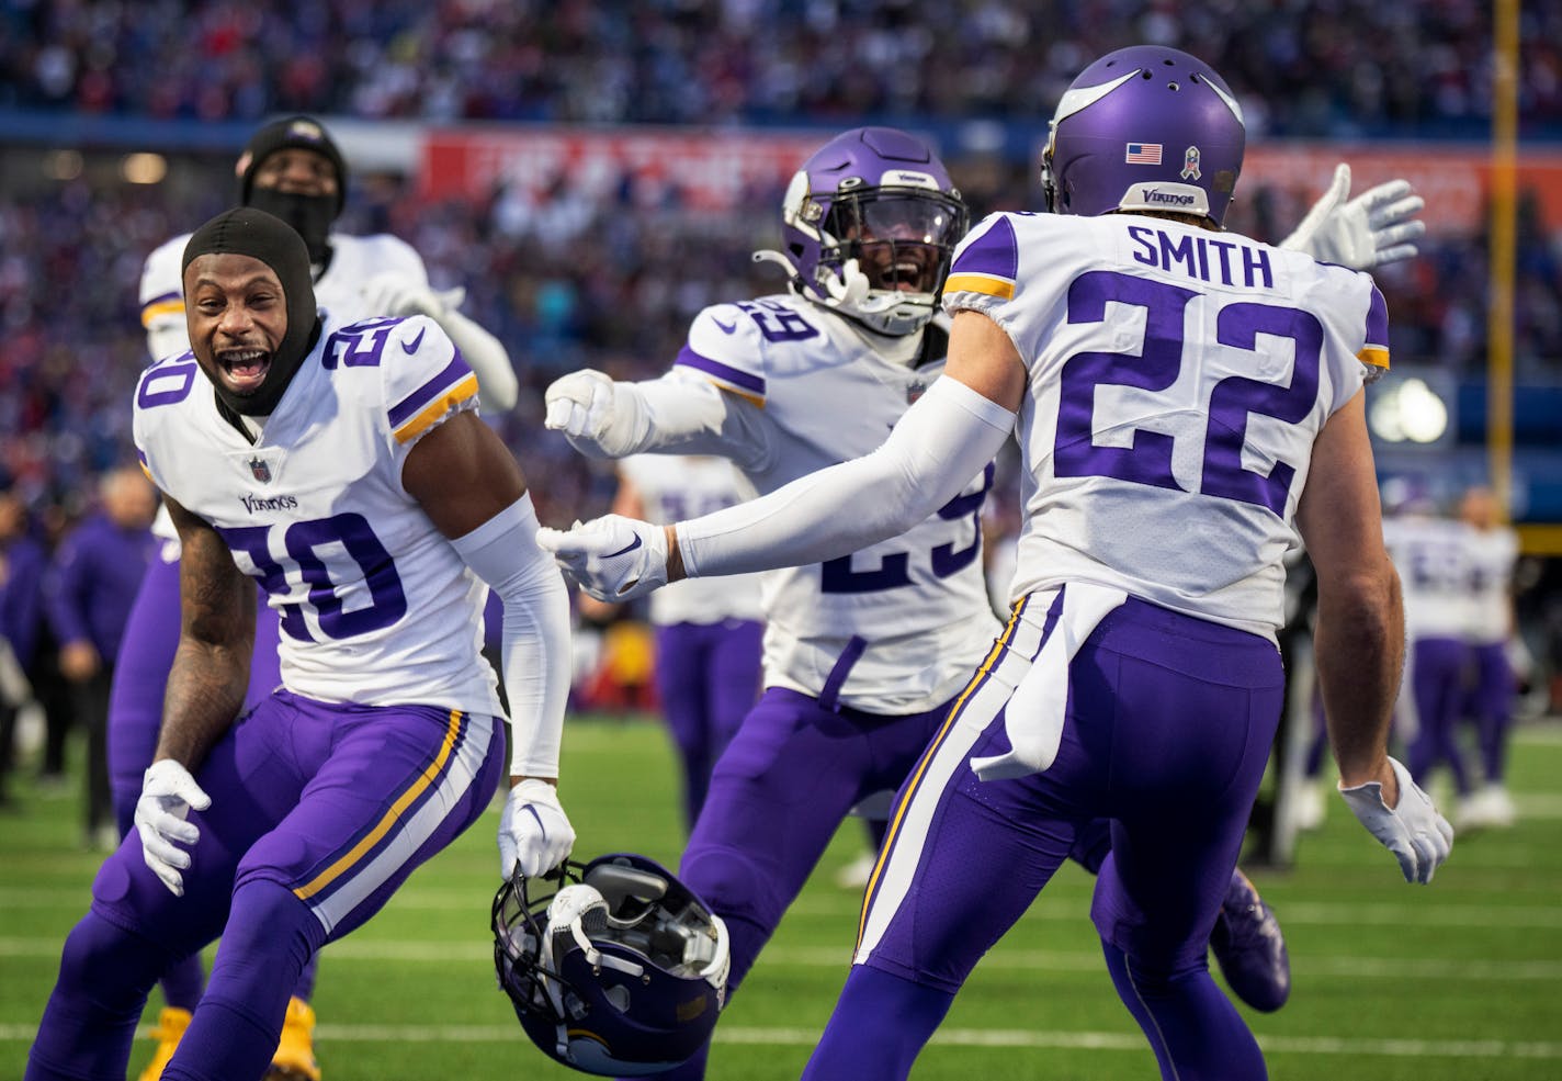
[[[1406,769],[1389,758],[1404,664],[1404,605],[1382,544],[1364,401],[1365,392],[1357,391],[1318,433],[1296,525],[1318,578],[1314,650],[1340,794],[1395,853],[1406,881],[1426,883],[1446,859],[1453,831]]]

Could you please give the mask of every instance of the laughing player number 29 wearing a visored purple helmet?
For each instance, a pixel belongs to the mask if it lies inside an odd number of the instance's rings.
[[[1348,237],[1373,259],[1379,247],[1387,258],[1414,253],[1420,223],[1401,219],[1420,200],[1406,198],[1407,186],[1342,203],[1346,187],[1343,172],[1309,214],[1306,239]],[[659,380],[614,383],[592,370],[558,380],[547,425],[592,456],[723,455],[761,492],[865,455],[943,370],[937,297],[965,228],[959,192],[920,139],[847,131],[792,180],[784,250],[756,255],[784,269],[787,292],[700,312]],[[992,476],[990,464],[973,470],[895,537],[767,580],[765,690],[717,762],[679,865],[733,934],[729,989],[848,809],[914,770],[1001,631],[979,558]],[[1068,845],[1092,872],[1107,847],[1104,819]],[[1228,894],[1218,936],[1228,979],[1254,1008],[1276,1009],[1289,992],[1284,939],[1240,872]],[[673,1076],[703,1070],[697,1058]]]

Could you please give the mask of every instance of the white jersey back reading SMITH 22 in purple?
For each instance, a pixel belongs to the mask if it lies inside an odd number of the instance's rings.
[[[1134,214],[993,214],[943,306],[1029,372],[1012,597],[1087,581],[1270,639],[1312,442],[1387,364],[1365,273]]]

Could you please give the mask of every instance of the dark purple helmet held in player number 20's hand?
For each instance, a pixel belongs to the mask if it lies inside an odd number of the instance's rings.
[[[540,895],[528,883],[548,881]],[[494,897],[494,964],[520,1026],[583,1073],[645,1076],[686,1062],[726,1003],[726,926],[645,856],[519,873]]]

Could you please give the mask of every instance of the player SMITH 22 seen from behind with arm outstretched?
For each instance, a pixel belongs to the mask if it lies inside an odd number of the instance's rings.
[[[1446,822],[1385,753],[1403,642],[1361,392],[1362,359],[1387,362],[1382,298],[1365,273],[1220,231],[1242,150],[1240,109],[1203,62],[1161,47],[1097,61],[1053,122],[1056,212],[993,214],[961,244],[945,378],[883,447],[676,526],[540,534],[604,597],[795,564],[829,581],[817,567],[862,551],[879,559],[848,570],[875,581],[936,573],[948,547],[906,539],[967,508],[972,478],[1018,436],[1012,614],[995,642],[984,626],[939,642],[979,656],[897,795],[809,1078],[904,1078],[1100,819],[1111,851],[1092,915],[1162,1076],[1264,1076],[1206,953],[1284,694],[1293,522],[1320,575],[1345,798],[1407,879],[1448,854]],[[817,798],[812,776],[790,780]]]

